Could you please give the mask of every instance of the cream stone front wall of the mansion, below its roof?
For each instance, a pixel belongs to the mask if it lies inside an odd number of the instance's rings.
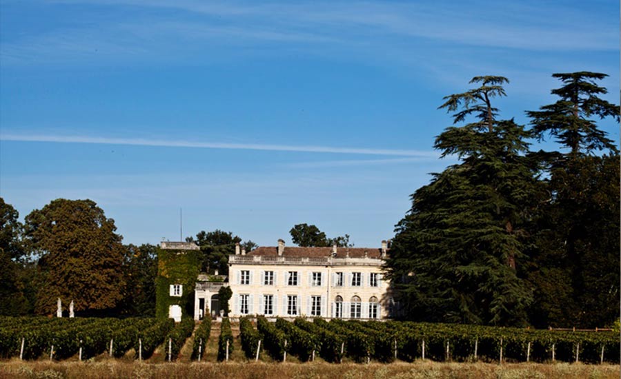
[[[328,265],[313,265],[312,258],[295,264],[279,257],[275,264],[274,259],[264,262],[261,257],[238,257],[230,259],[228,278],[233,291],[230,316],[259,314],[364,319],[388,316],[386,292],[389,283],[382,275],[380,259],[335,258],[329,260]],[[273,273],[271,284],[266,283],[268,272]],[[342,274],[342,285],[338,283],[337,273]],[[295,285],[292,274],[297,275]],[[376,283],[372,283],[372,275]],[[356,283],[358,278],[359,283]],[[272,296],[272,313],[266,312],[264,296]],[[291,296],[295,296],[295,300]],[[337,305],[337,296],[342,299],[342,305]],[[297,301],[297,309],[293,308],[292,300]],[[374,307],[377,309],[375,315],[371,312]]]

